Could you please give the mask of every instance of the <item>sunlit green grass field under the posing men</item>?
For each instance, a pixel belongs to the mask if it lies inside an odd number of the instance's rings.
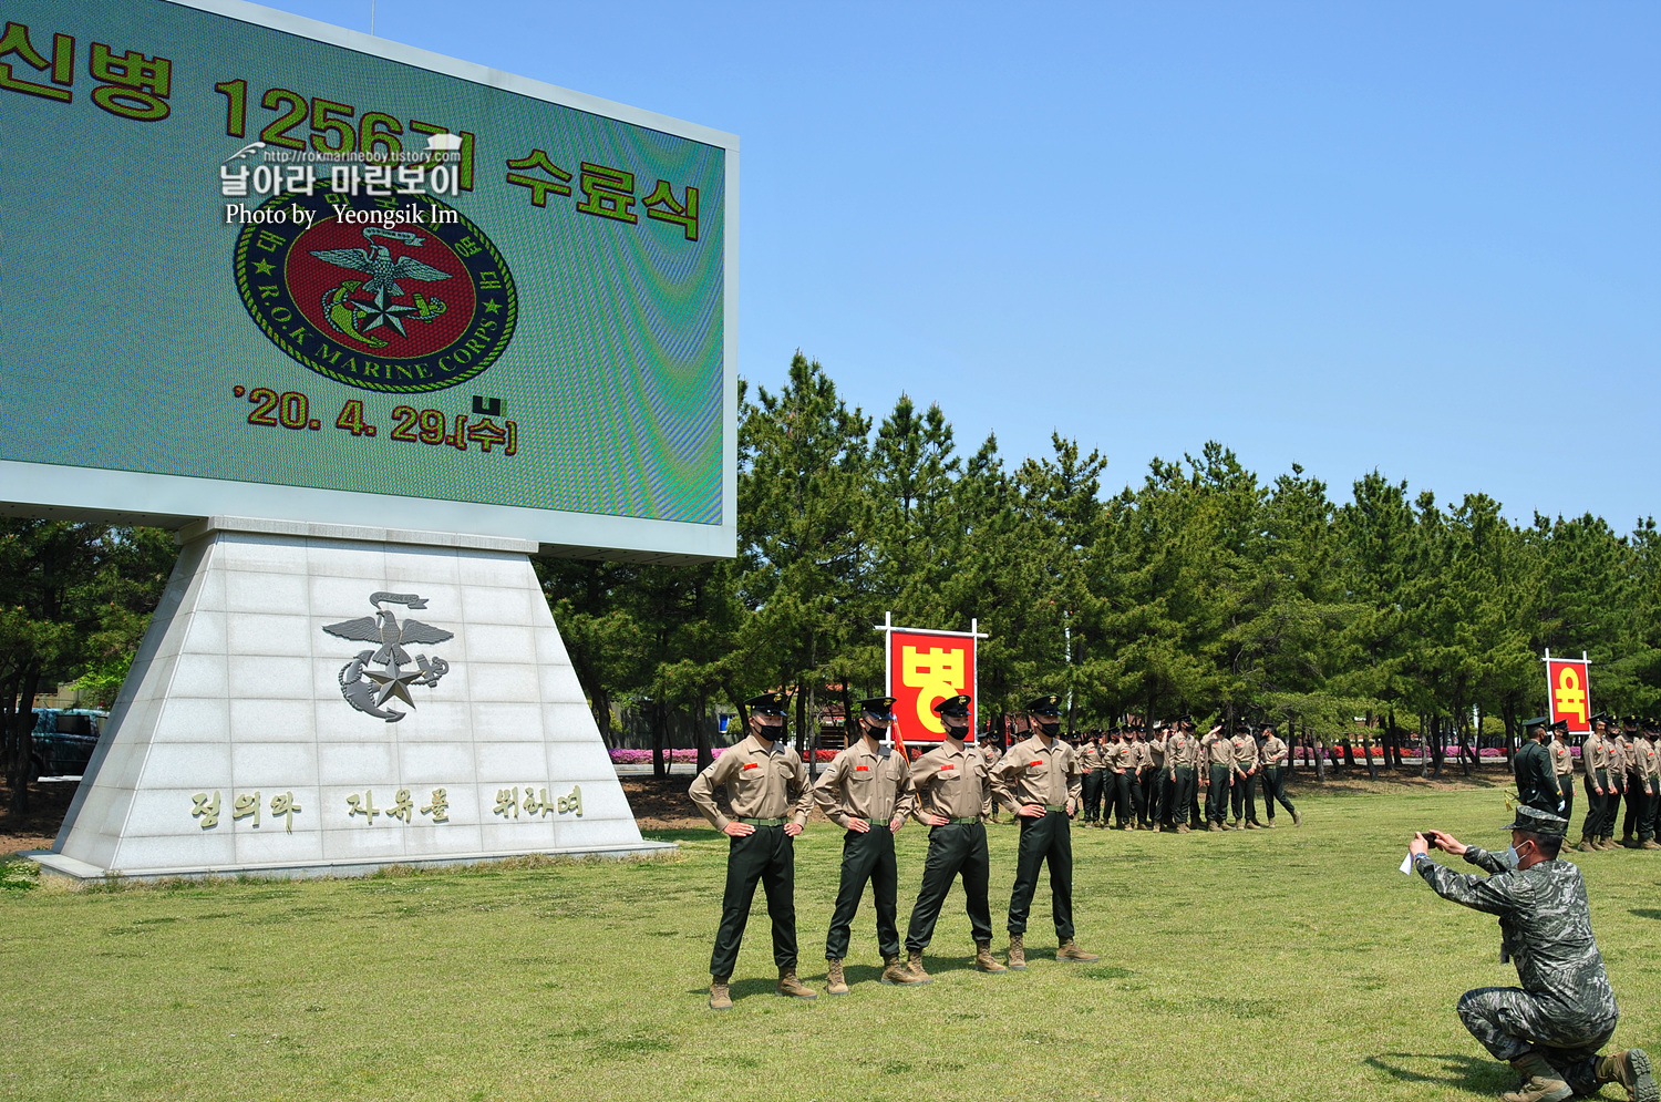
[[[1503,846],[1497,790],[1299,793],[1307,824],[1075,831],[1080,941],[1040,889],[1025,974],[982,976],[953,889],[935,982],[894,989],[869,909],[854,994],[774,997],[752,916],[737,1006],[704,1007],[726,844],[355,881],[65,891],[0,868],[0,1099],[1470,1099],[1507,1089],[1453,1016],[1513,984],[1492,918],[1397,864],[1414,828]],[[900,844],[900,924],[925,831]],[[840,831],[797,843],[802,974],[822,987]],[[992,828],[993,924],[1015,828]],[[1661,1041],[1661,854],[1573,854],[1621,1002]],[[1463,863],[1458,863],[1465,868]],[[1002,932],[995,942],[1002,951]],[[1608,1089],[1606,1097],[1623,1097]]]

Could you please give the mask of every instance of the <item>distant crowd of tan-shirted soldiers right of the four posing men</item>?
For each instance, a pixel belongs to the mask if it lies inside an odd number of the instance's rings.
[[[1199,736],[1191,716],[1086,731],[1085,824],[1124,831],[1271,829],[1276,804],[1296,826],[1304,816],[1286,796],[1291,748],[1274,725],[1213,726]],[[1257,791],[1267,814],[1257,818]],[[1201,796],[1204,808],[1201,809]]]

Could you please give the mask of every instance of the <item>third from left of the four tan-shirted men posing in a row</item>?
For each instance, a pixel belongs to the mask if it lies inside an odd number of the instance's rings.
[[[992,776],[980,750],[963,745],[970,703],[965,695],[933,706],[945,728],[945,740],[912,763],[915,816],[928,826],[928,856],[924,859],[924,883],[917,891],[917,906],[912,908],[912,922],[905,931],[905,949],[910,954],[905,967],[924,977],[928,976],[924,971],[924,949],[933,941],[940,906],[958,876],[963,878],[968,931],[975,939],[975,967],[982,972],[1007,971],[992,959],[992,904],[987,899],[992,859],[987,856],[985,821],[992,813]]]

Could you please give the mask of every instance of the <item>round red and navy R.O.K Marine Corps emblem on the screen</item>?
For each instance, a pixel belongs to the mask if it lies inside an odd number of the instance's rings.
[[[513,339],[507,261],[435,198],[279,194],[236,239],[243,304],[321,376],[415,394],[465,382]]]

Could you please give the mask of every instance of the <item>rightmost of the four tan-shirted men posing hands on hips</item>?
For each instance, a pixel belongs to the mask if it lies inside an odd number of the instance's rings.
[[[1073,833],[1068,818],[1078,808],[1083,780],[1078,756],[1063,743],[1061,698],[1055,693],[1026,705],[1033,736],[1010,746],[992,766],[992,796],[1022,824],[1015,889],[1010,893],[1010,967],[1026,967],[1026,914],[1038,889],[1038,871],[1050,864],[1050,904],[1060,946],[1056,961],[1100,961],[1073,941]]]

